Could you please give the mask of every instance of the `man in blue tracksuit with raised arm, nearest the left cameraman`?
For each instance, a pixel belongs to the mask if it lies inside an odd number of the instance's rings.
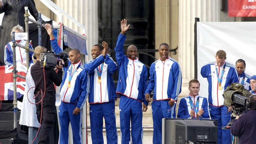
[[[62,52],[54,38],[51,27],[46,27],[55,53]],[[68,129],[71,123],[73,143],[82,143],[82,108],[89,93],[89,75],[84,70],[78,49],[69,52],[68,67],[63,67],[64,76],[61,83],[59,106],[60,144],[68,144]]]

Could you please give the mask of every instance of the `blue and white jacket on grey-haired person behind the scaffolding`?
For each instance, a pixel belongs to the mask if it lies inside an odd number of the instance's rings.
[[[21,45],[26,45],[26,41],[21,40],[19,42]],[[29,44],[29,48],[33,49],[31,44]],[[26,63],[26,50],[24,48],[20,48],[16,46],[16,63]],[[32,61],[33,52],[29,52],[29,64],[33,63]],[[5,65],[12,65],[13,64],[13,51],[12,51],[12,42],[9,42],[4,47],[4,63]]]

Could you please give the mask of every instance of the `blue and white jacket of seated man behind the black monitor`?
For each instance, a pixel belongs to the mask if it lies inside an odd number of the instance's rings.
[[[199,97],[198,109],[203,109],[203,111],[204,111],[204,113],[201,116],[199,116],[199,119],[210,119],[207,98],[201,97],[199,95],[196,95],[196,96],[188,95],[188,96],[180,99],[177,118],[191,119],[191,117],[190,117],[191,106],[190,106],[190,102],[189,102],[189,97],[194,102],[194,105],[196,104],[197,98]],[[195,116],[196,116],[196,114],[195,114]]]

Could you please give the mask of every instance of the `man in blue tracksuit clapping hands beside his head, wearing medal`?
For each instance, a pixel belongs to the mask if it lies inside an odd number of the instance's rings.
[[[107,49],[108,44],[102,43]],[[92,47],[93,59],[86,63],[86,71],[90,75],[90,123],[93,144],[103,144],[103,117],[105,119],[107,143],[117,144],[115,115],[116,88],[112,74],[117,70],[117,63],[109,54],[104,58],[102,45]],[[97,62],[98,61],[98,62]]]

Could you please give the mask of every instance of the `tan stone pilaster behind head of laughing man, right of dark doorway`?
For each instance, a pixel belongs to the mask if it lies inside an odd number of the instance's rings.
[[[178,0],[155,1],[155,49],[161,43],[167,43],[170,49],[178,46]],[[178,51],[177,51],[178,52]],[[178,53],[169,55],[178,61]],[[155,54],[159,58],[158,52]]]

